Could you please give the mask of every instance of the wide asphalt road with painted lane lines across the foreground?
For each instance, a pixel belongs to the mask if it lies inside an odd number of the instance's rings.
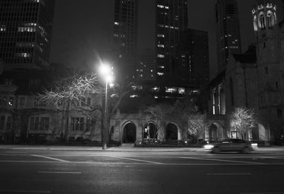
[[[284,152],[0,150],[0,193],[284,193]]]

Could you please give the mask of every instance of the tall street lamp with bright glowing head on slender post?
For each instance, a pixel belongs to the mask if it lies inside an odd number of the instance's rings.
[[[104,131],[102,132],[102,149],[107,149],[107,88],[108,84],[114,81],[114,76],[111,72],[111,67],[108,64],[102,64],[99,67],[100,74],[104,77],[104,81],[106,82],[106,89],[105,89],[105,98],[104,98]]]

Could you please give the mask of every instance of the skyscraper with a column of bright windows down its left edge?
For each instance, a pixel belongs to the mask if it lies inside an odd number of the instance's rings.
[[[155,0],[155,50],[158,81],[188,84],[183,50],[187,28],[187,0]],[[167,81],[168,80],[168,81]]]

